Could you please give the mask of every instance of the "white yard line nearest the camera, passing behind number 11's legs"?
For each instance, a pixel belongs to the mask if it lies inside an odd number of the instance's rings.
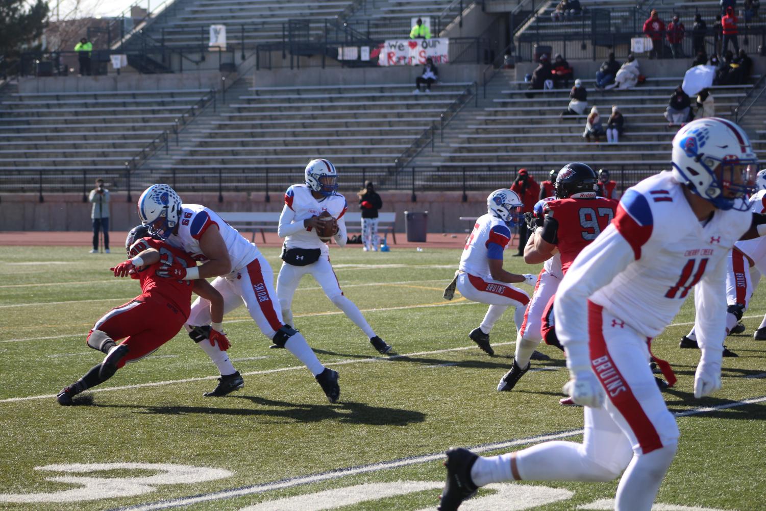
[[[766,396],[758,398],[745,399],[744,401],[733,401],[732,403],[726,403],[725,405],[716,405],[711,407],[692,408],[691,410],[679,412],[676,417],[688,417],[689,415],[705,414],[709,411],[723,410],[725,408],[735,408],[738,406],[752,405],[766,401]],[[470,447],[473,452],[484,453],[492,450],[507,449],[509,447],[518,447],[521,445],[538,444],[544,441],[558,440],[561,438],[575,437],[578,434],[583,434],[584,430],[570,430],[559,431],[556,433],[542,434],[537,437],[519,438],[516,440],[508,440],[501,442],[493,442],[491,444],[482,444],[475,447]],[[110,509],[110,511],[154,511],[155,509],[169,509],[171,507],[191,506],[197,503],[210,502],[213,500],[232,499],[234,497],[255,495],[257,493],[264,493],[271,490],[283,490],[285,488],[291,488],[294,486],[303,486],[309,483],[317,483],[319,481],[339,479],[346,476],[355,476],[360,473],[372,473],[379,472],[381,470],[391,470],[394,468],[407,467],[408,465],[428,463],[430,461],[437,461],[444,459],[444,451],[433,454],[423,454],[421,456],[399,458],[398,460],[381,461],[375,464],[358,465],[356,467],[346,467],[336,470],[329,470],[322,473],[314,473],[306,476],[293,477],[290,479],[283,479],[273,481],[271,483],[254,484],[252,486],[242,486],[240,488],[233,488],[231,490],[219,490],[212,493],[202,493],[201,495],[180,497],[178,499],[159,500],[157,502],[137,504],[135,506],[124,506]]]

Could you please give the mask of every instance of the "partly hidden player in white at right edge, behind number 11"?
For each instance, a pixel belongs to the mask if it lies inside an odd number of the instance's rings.
[[[766,213],[766,170],[758,172],[755,179],[758,192],[750,198],[750,211],[763,215]],[[726,271],[726,331],[728,333],[745,332],[745,325],[739,323],[742,315],[750,306],[750,299],[758,287],[761,275],[766,272],[766,237],[756,237],[738,241],[728,254]],[[753,333],[756,340],[766,340],[766,316],[761,326]],[[699,348],[696,327],[681,338],[681,348]],[[724,356],[737,356],[726,349]]]

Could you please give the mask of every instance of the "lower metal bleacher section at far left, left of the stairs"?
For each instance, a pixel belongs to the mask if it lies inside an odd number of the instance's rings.
[[[95,175],[122,175],[126,162],[210,90],[16,93],[0,103],[0,189],[45,173],[62,191]],[[90,177],[89,177],[90,176]]]

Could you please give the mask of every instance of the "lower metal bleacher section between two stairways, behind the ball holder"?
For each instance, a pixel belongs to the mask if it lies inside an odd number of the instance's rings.
[[[252,87],[159,169],[183,172],[191,187],[218,183],[221,172],[229,184],[280,188],[317,157],[384,175],[470,86],[440,83],[420,95],[411,84]]]

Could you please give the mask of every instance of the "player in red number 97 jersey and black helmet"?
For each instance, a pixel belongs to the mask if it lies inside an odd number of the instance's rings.
[[[612,221],[617,201],[598,197],[596,173],[584,163],[569,163],[558,172],[556,199],[543,204],[543,216],[525,247],[524,260],[538,264],[561,254],[561,273],[566,274],[580,251],[594,241]],[[555,336],[553,300],[545,306],[542,317],[542,339],[559,349]],[[529,358],[538,342],[519,342],[512,368],[500,379],[499,391],[510,391],[529,370]]]

